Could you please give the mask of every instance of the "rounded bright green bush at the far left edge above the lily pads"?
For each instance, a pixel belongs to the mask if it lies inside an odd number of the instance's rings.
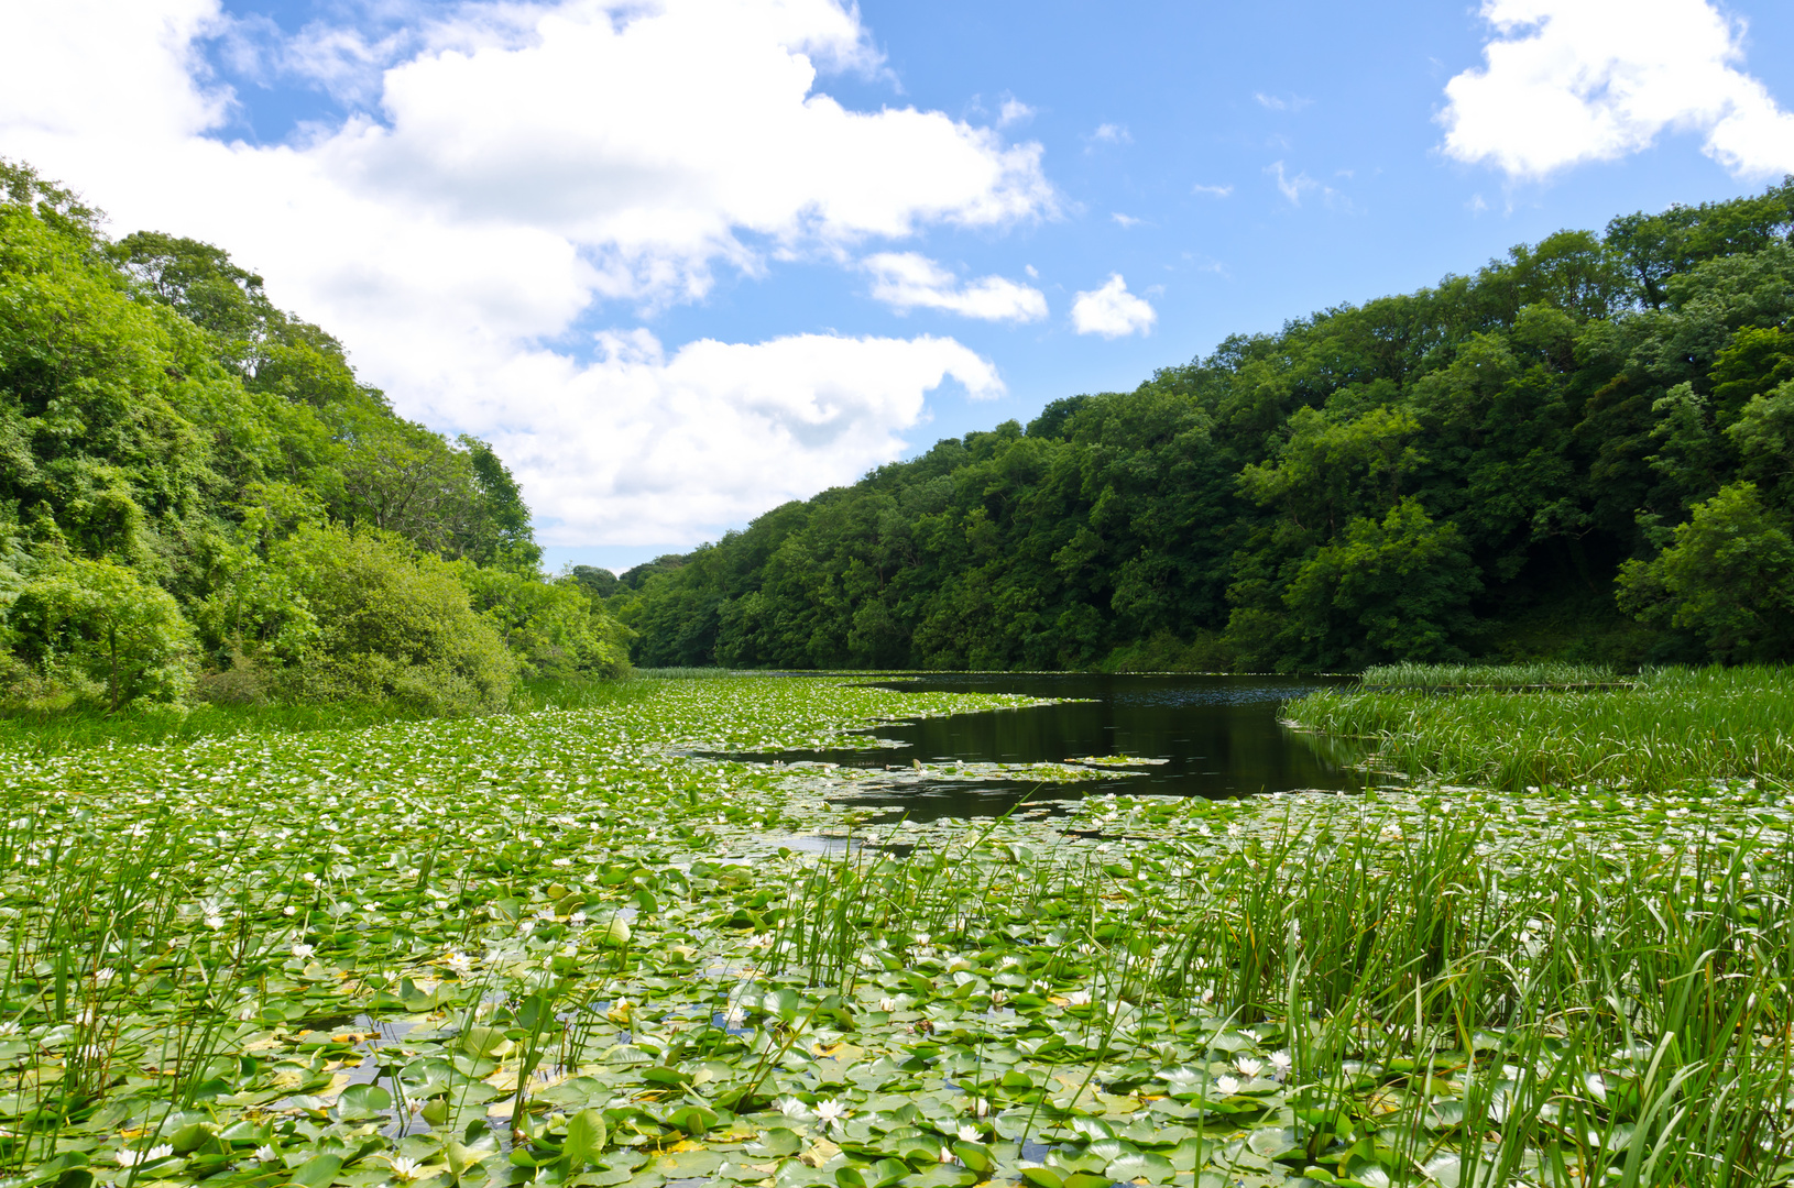
[[[179,701],[197,649],[174,597],[111,561],[54,552],[29,563],[5,609],[13,684],[30,701],[118,710]]]

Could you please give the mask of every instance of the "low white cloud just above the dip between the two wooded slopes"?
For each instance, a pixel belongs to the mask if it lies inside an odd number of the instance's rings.
[[[786,500],[859,478],[904,452],[947,380],[1003,392],[953,339],[703,339],[671,355],[646,330],[599,335],[601,357],[518,355],[488,382],[536,426],[492,443],[531,493],[547,545],[716,538]]]

